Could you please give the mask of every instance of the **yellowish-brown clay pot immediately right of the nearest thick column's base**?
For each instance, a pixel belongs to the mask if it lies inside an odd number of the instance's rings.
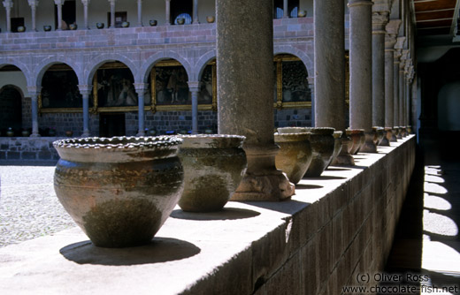
[[[275,156],[276,168],[282,170],[293,184],[297,184],[311,164],[310,132],[275,133],[280,152]]]

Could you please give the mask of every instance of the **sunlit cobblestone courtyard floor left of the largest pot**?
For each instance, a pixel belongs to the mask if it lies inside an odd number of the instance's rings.
[[[0,166],[0,247],[75,226],[54,193],[54,166]]]

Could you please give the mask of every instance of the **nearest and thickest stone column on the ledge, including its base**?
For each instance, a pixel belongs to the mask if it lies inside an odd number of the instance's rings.
[[[257,13],[248,18],[248,11]],[[272,1],[216,1],[219,133],[246,136],[248,160],[232,200],[285,200],[295,193],[275,167],[272,11]]]

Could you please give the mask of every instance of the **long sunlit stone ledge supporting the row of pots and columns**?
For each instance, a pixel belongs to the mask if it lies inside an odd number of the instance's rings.
[[[213,214],[176,208],[149,246],[96,248],[78,228],[6,246],[2,291],[339,294],[358,271],[381,269],[391,247],[415,136],[392,145],[357,155],[357,167],[304,178],[289,201],[229,202]]]

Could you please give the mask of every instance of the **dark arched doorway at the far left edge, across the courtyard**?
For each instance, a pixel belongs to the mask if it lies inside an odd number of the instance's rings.
[[[5,134],[8,128],[20,133],[22,127],[22,95],[12,86],[0,90],[0,131]]]

